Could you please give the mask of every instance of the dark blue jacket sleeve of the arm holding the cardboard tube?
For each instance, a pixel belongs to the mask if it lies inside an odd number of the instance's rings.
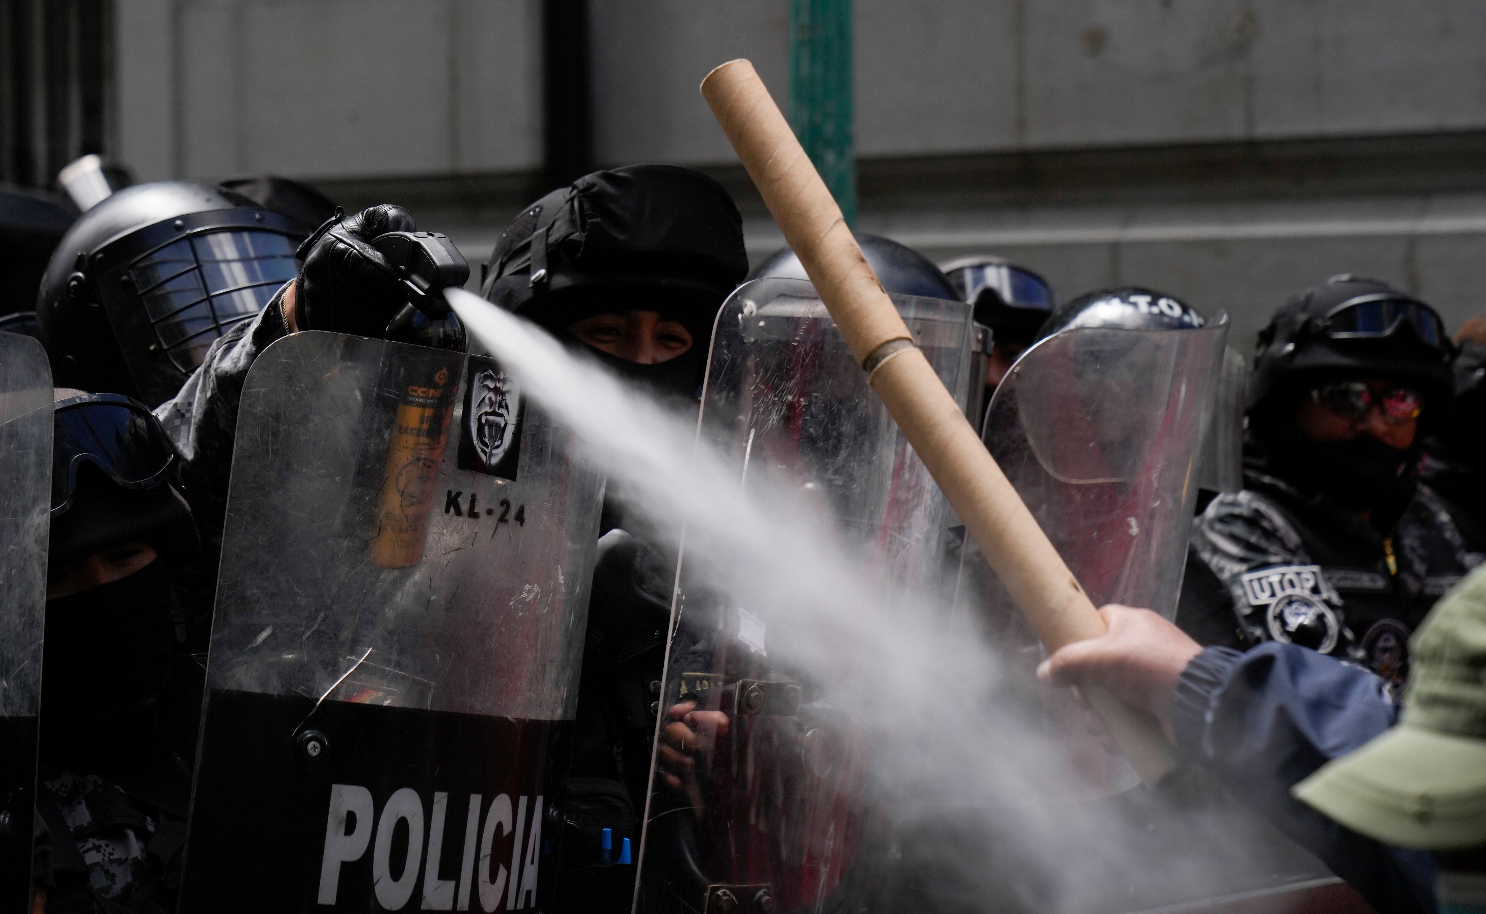
[[[1433,914],[1434,862],[1331,822],[1290,795],[1327,761],[1383,733],[1398,709],[1383,682],[1291,644],[1207,648],[1172,697],[1177,751],[1346,880],[1376,911]]]

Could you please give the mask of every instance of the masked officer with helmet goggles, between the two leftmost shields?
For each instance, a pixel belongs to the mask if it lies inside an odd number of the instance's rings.
[[[196,551],[153,415],[56,391],[37,789],[48,911],[169,911],[202,669],[172,569]]]

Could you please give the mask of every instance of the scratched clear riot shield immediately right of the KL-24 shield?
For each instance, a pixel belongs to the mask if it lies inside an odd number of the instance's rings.
[[[893,302],[963,409],[969,306]],[[948,504],[808,282],[761,279],[724,305],[700,438],[731,455],[744,489],[794,492],[792,510],[884,591],[942,587]],[[684,779],[652,765],[636,910],[819,911],[853,896],[843,886],[863,869],[869,753],[843,700],[853,682],[792,666],[788,633],[692,566],[684,548],[657,716],[661,733],[691,710],[727,730]],[[851,633],[832,649],[849,654]]]

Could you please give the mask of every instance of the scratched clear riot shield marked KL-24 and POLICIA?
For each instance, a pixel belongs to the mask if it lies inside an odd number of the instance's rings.
[[[550,907],[600,499],[489,358],[328,333],[265,351],[180,910]]]

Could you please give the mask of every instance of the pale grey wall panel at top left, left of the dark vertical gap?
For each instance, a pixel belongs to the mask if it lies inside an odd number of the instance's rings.
[[[541,156],[539,0],[123,0],[141,178],[459,175]]]

